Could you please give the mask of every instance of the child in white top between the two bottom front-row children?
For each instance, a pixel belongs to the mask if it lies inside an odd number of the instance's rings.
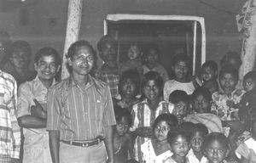
[[[202,143],[208,134],[207,126],[197,123],[193,126],[191,135],[191,149],[188,153],[189,162],[207,163],[207,158],[203,155]]]

